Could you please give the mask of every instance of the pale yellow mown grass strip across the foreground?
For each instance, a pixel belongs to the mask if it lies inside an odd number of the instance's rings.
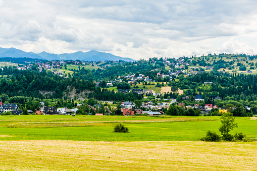
[[[0,170],[256,170],[257,142],[0,141]]]

